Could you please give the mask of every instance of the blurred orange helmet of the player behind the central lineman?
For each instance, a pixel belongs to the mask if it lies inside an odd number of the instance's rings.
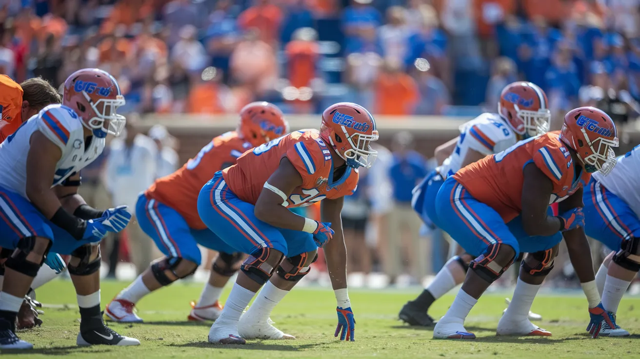
[[[253,147],[289,133],[282,111],[269,102],[252,102],[240,110],[238,134]]]

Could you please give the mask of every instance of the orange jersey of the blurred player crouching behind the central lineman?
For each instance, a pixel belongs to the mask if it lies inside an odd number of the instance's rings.
[[[180,213],[193,229],[207,226],[198,216],[198,193],[213,174],[236,163],[252,145],[238,137],[235,131],[221,134],[202,148],[196,157],[176,172],[157,179],[145,195]]]

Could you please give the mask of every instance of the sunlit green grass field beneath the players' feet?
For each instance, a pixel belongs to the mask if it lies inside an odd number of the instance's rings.
[[[124,282],[102,283],[102,307]],[[186,321],[189,301],[200,294],[198,283],[177,283],[143,299],[139,314],[145,324],[110,324],[121,334],[140,339],[138,347],[76,347],[79,312],[72,284],[56,281],[38,290],[38,300],[56,305],[45,308],[44,324],[23,331],[20,337],[35,343],[33,351],[2,352],[3,358],[609,358],[640,357],[640,335],[625,339],[589,339],[586,331],[586,299],[579,295],[540,296],[533,310],[543,315],[543,328],[552,337],[496,337],[497,321],[505,308],[504,295],[486,295],[472,310],[467,330],[472,341],[435,340],[430,330],[413,329],[397,321],[399,308],[415,294],[394,291],[350,291],[356,317],[355,342],[333,337],[337,323],[333,291],[294,290],[276,308],[271,318],[276,326],[296,340],[250,341],[246,346],[213,346],[207,342],[209,324]],[[226,295],[223,295],[226,298]],[[447,296],[431,310],[442,315],[451,303]],[[65,306],[61,306],[64,304]],[[632,333],[640,333],[640,299],[623,299],[618,322]]]

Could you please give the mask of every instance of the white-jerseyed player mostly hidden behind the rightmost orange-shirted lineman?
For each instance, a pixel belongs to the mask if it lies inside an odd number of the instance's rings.
[[[436,148],[435,157],[442,163],[413,189],[412,206],[425,223],[439,226],[436,218],[436,195],[444,180],[460,168],[488,155],[506,150],[516,141],[548,131],[551,113],[547,95],[536,84],[518,81],[505,86],[500,94],[498,113],[483,113],[460,127],[460,136]],[[436,299],[463,282],[474,257],[462,253],[449,259],[433,282],[418,298],[409,301],[398,316],[410,325],[433,326],[427,314]],[[539,317],[531,314],[532,319]]]

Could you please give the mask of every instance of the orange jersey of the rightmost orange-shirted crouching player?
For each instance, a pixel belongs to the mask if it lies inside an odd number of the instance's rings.
[[[553,182],[549,204],[560,202],[589,181],[589,173],[582,171],[575,178],[571,154],[559,139],[560,131],[520,141],[507,150],[484,157],[456,172],[453,177],[469,193],[493,209],[505,222],[522,212],[522,169],[534,163]]]

